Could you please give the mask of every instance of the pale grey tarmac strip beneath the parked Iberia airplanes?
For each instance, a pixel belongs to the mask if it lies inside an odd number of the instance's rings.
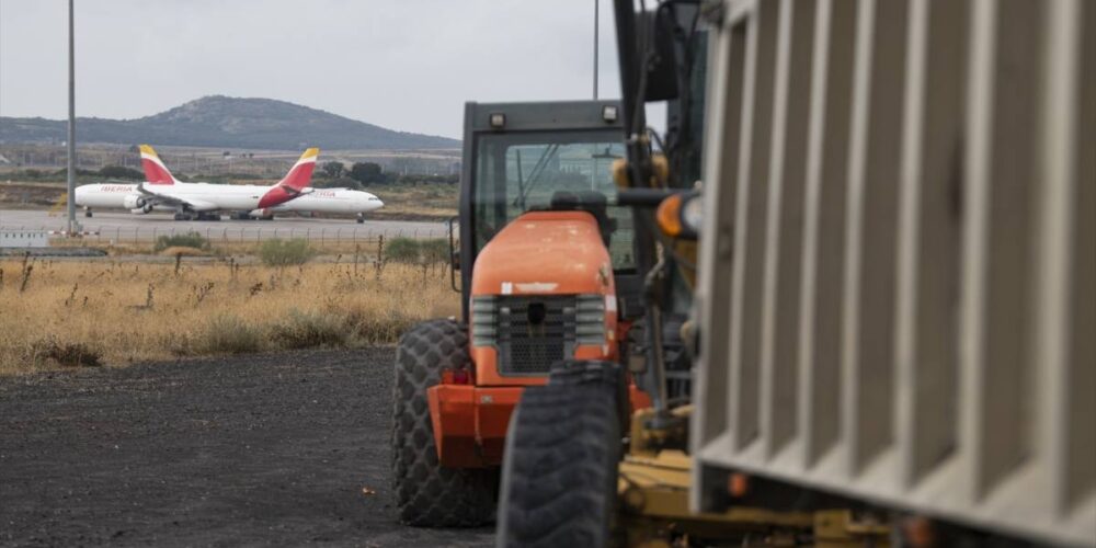
[[[98,232],[103,241],[119,242],[153,240],[158,236],[196,231],[214,239],[263,240],[270,238],[308,238],[311,240],[352,240],[384,236],[442,238],[448,232],[444,222],[403,220],[310,219],[278,217],[274,220],[179,221],[171,214],[133,215],[124,212],[95,212],[92,218],[78,219],[84,231]],[[65,230],[64,216],[50,217],[48,212],[2,209],[0,229]]]

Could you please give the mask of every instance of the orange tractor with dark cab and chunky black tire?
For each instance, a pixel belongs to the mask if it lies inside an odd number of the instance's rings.
[[[613,377],[609,404],[649,404],[617,366],[639,345],[629,339],[643,307],[637,264],[650,259],[637,256],[631,209],[615,205],[619,114],[610,101],[466,106],[452,250],[461,319],[421,323],[397,350],[391,448],[402,522],[493,521],[511,414],[553,364]]]

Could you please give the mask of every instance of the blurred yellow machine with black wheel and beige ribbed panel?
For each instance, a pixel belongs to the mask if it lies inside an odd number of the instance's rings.
[[[653,406],[579,404],[601,368],[526,392],[500,546],[1096,546],[1096,5],[619,0],[616,27]],[[523,463],[527,427],[566,449]]]

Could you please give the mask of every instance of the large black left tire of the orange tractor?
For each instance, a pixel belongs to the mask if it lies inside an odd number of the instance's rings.
[[[443,368],[467,366],[468,335],[453,320],[420,323],[396,350],[392,481],[400,522],[418,527],[472,527],[494,520],[499,470],[444,468],[437,461],[426,389]]]

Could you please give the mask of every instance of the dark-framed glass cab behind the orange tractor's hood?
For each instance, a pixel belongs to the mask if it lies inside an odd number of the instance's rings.
[[[618,285],[638,287],[631,210],[614,205],[617,191],[610,169],[625,156],[617,102],[468,103],[464,144],[464,296],[473,296],[480,253],[527,213],[587,214],[608,250]],[[502,287],[494,293],[502,294]],[[464,299],[466,322],[471,320],[470,306]]]

